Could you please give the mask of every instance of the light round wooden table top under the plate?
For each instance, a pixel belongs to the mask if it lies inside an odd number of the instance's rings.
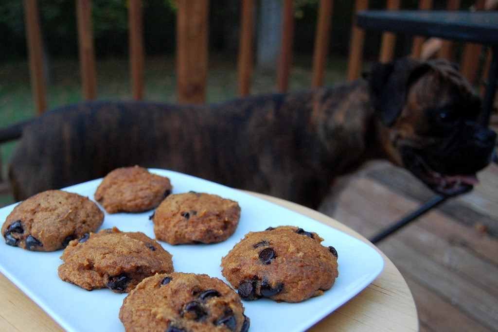
[[[370,244],[354,230],[315,210],[266,195],[250,194],[328,224]],[[408,285],[394,264],[382,252],[380,254],[385,266],[377,279],[309,331],[418,331],[417,310]],[[1,273],[0,299],[0,331],[63,331]]]

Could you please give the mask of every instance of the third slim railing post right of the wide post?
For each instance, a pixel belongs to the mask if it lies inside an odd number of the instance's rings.
[[[313,51],[313,88],[323,86],[327,55],[330,42],[330,25],[332,24],[333,0],[320,0],[318,7],[318,22]]]

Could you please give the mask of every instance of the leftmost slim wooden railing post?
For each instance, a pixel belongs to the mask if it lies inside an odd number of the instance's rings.
[[[43,51],[37,0],[24,0],[24,21],[33,97],[36,112],[41,114],[47,109],[47,88],[43,73]]]

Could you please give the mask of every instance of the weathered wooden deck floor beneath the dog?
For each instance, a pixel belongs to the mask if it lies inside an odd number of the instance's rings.
[[[410,287],[421,331],[498,331],[498,166],[480,184],[377,242]],[[404,170],[375,163],[320,209],[367,238],[434,194]]]

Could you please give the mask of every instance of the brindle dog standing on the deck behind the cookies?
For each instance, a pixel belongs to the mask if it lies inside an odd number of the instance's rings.
[[[491,161],[496,133],[479,112],[452,64],[409,58],[335,87],[220,104],[84,102],[10,128],[9,178],[23,200],[140,165],[317,209],[338,176],[383,158],[457,195]]]

